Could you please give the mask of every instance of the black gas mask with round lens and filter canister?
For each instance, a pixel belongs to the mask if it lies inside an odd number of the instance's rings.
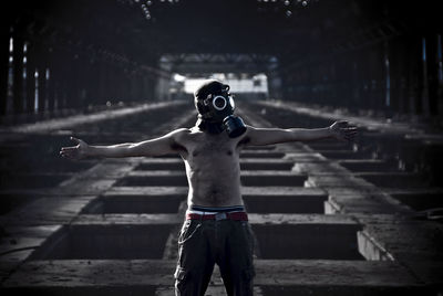
[[[209,134],[226,130],[229,138],[236,138],[246,131],[243,119],[234,116],[235,103],[228,85],[224,85],[220,92],[197,101],[196,106],[199,113],[197,126],[200,129]]]

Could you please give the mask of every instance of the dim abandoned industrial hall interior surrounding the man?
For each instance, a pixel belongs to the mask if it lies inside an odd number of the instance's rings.
[[[182,159],[59,151],[190,128],[217,78],[248,125],[359,130],[241,151],[254,295],[443,295],[437,2],[4,1],[1,294],[174,295]]]

